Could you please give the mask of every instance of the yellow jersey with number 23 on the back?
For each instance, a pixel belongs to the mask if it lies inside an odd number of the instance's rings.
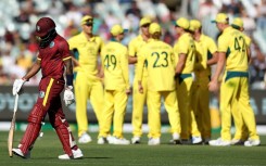
[[[142,79],[147,65],[148,89],[151,91],[172,91],[175,89],[175,55],[173,48],[160,40],[149,39],[138,56],[138,80]]]

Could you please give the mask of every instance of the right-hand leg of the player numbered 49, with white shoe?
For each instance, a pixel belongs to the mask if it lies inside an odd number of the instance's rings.
[[[123,125],[126,114],[128,95],[125,90],[115,91],[114,94],[114,144],[129,144],[130,141],[123,137]]]

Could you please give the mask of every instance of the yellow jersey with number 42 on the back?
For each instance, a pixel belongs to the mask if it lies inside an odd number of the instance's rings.
[[[227,27],[218,38],[218,52],[226,53],[226,71],[248,72],[245,35]]]

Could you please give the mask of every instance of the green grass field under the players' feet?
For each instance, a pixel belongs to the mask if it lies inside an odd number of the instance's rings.
[[[16,131],[14,145],[18,144],[23,132]],[[58,165],[88,165],[88,166],[203,166],[203,165],[233,165],[257,166],[266,165],[266,136],[262,136],[262,145],[254,148],[208,145],[173,145],[168,144],[169,133],[163,133],[161,145],[147,145],[143,137],[142,144],[130,145],[98,145],[97,133],[92,133],[93,141],[80,144],[85,157],[76,161],[60,161],[62,146],[54,131],[45,131],[38,139],[31,152],[30,159],[8,155],[8,132],[0,132],[0,166],[58,166]],[[125,135],[130,138],[130,135]]]

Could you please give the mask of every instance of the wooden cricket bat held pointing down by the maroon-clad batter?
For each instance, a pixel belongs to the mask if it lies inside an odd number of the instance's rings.
[[[13,148],[14,131],[15,131],[15,113],[17,110],[17,102],[18,102],[18,94],[15,94],[14,112],[13,112],[13,117],[12,117],[12,122],[10,126],[9,139],[8,139],[8,148],[9,148],[10,157],[13,156],[12,148]]]

